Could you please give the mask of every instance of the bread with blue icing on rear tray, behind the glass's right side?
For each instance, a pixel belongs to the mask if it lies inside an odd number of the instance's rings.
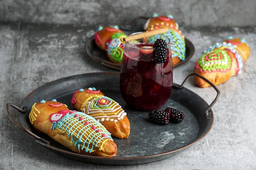
[[[163,33],[163,35],[166,35],[170,39],[173,65],[185,60],[185,37],[182,34],[182,31],[180,31],[177,22],[173,20],[173,15],[159,16],[157,14],[153,14],[152,18],[149,18],[146,24],[144,24],[145,31],[153,31],[160,28],[168,28],[168,32]],[[149,40],[150,42],[155,42],[157,38],[161,37],[159,35],[153,35]]]

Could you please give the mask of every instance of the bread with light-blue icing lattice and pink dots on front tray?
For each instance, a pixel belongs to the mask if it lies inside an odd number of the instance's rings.
[[[84,155],[114,157],[117,145],[110,132],[93,117],[55,101],[35,103],[29,113],[32,126],[54,141]]]

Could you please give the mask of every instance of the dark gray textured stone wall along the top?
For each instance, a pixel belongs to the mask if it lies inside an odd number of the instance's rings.
[[[256,0],[0,0],[0,21],[130,24],[171,13],[182,26],[256,26]]]

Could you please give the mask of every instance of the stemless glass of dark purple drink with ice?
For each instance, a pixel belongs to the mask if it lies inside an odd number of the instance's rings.
[[[166,61],[159,64],[153,56],[156,37],[167,43]],[[160,108],[171,95],[172,73],[171,46],[166,36],[158,34],[126,42],[120,73],[124,101],[137,110]]]

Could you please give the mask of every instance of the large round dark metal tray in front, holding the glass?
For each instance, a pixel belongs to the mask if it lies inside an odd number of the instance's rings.
[[[201,97],[183,87],[189,76],[181,86],[175,84],[170,99],[161,109],[167,106],[177,108],[185,117],[180,124],[169,123],[163,126],[151,123],[148,120],[148,112],[133,110],[126,105],[119,93],[119,75],[117,72],[88,73],[49,82],[31,92],[19,107],[7,104],[7,115],[29,137],[53,152],[78,161],[105,165],[133,165],[166,159],[200,141],[210,131],[213,125],[211,106],[219,96],[219,91],[214,85],[217,97],[209,106]],[[119,102],[127,112],[131,126],[130,136],[128,139],[113,138],[118,149],[116,157],[74,153],[47,135],[37,132],[30,125],[28,115],[35,102],[56,99],[73,110],[70,100],[74,91],[88,87],[100,89],[106,96]],[[11,116],[10,106],[18,110],[18,121]]]

